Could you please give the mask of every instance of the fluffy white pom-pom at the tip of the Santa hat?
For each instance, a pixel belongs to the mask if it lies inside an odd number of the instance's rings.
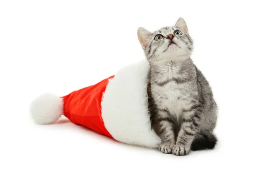
[[[63,100],[54,94],[44,94],[34,99],[30,113],[37,124],[50,124],[63,114]]]

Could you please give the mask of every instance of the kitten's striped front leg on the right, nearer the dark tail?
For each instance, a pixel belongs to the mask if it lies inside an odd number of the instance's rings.
[[[183,115],[183,122],[177,136],[176,144],[172,150],[172,153],[177,156],[189,154],[190,145],[200,124],[201,108],[193,108],[189,111],[185,110]]]

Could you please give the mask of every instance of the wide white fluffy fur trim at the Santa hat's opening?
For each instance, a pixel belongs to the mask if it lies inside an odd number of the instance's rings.
[[[148,61],[143,60],[120,69],[108,83],[101,103],[102,118],[119,142],[145,147],[157,147],[161,142],[148,113],[149,70]]]

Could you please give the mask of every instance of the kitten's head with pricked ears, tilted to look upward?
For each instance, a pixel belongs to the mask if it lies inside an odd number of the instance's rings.
[[[154,33],[140,27],[138,38],[149,62],[188,59],[193,50],[193,41],[183,18],[179,18],[175,26]]]

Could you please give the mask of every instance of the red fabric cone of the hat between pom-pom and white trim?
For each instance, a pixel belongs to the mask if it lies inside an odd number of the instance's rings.
[[[105,136],[112,137],[102,119],[101,100],[109,79],[113,77],[63,96],[64,115],[74,124],[83,125]]]

